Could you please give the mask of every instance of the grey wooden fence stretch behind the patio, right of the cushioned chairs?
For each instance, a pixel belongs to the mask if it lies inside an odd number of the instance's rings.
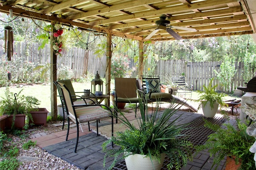
[[[202,90],[203,85],[206,86],[210,82],[210,78],[214,79],[214,84],[218,84],[218,89],[223,91],[223,87],[220,86],[220,82],[216,78],[216,72],[220,72],[221,61],[214,62],[187,62],[183,60],[161,60],[156,65],[155,74],[162,76],[162,79],[166,74],[173,76],[185,75],[186,81],[193,85],[193,90]],[[236,74],[230,81],[229,91],[236,89],[238,86],[245,86],[242,73],[244,65],[241,62],[235,63]],[[215,70],[215,71],[214,71]],[[254,76],[254,72],[246,73]]]

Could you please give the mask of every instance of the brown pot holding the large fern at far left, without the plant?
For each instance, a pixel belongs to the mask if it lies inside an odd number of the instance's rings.
[[[12,128],[12,119],[13,119],[13,115],[7,115],[6,122],[5,122],[6,129]],[[25,114],[17,114],[15,116],[14,127],[18,129],[23,129],[23,127],[25,126],[25,119],[26,119]]]

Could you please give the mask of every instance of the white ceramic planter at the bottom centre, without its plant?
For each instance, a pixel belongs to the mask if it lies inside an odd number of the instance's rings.
[[[161,154],[161,161],[160,163],[155,158],[152,159],[152,162],[149,157],[146,157],[146,155],[141,154],[132,154],[125,158],[125,163],[127,170],[160,170],[162,168],[165,153]]]

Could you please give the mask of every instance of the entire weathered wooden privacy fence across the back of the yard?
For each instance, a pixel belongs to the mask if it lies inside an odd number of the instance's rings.
[[[0,40],[0,55],[4,54],[4,41]],[[21,61],[31,62],[35,64],[50,63],[50,46],[45,45],[44,49],[38,50],[38,43],[32,45],[25,42],[14,42],[14,55],[12,59],[20,58]],[[150,60],[146,61],[147,68],[144,68],[144,74],[147,74],[148,66],[151,65]],[[159,75],[161,79],[166,74],[173,76],[185,75],[186,81],[193,85],[193,90],[202,90],[203,85],[208,85],[210,78],[216,77],[216,72],[220,72],[221,61],[214,62],[187,62],[184,60],[160,60],[156,63],[154,75]],[[84,74],[96,74],[97,70],[101,77],[105,77],[106,72],[106,56],[98,57],[92,51],[86,51],[80,48],[69,48],[62,52],[62,56],[57,57],[57,69],[61,64],[68,66],[74,73],[73,78],[80,78]],[[131,60],[130,68],[136,66],[136,63]],[[236,74],[230,81],[230,91],[238,86],[245,86],[243,79],[244,65],[241,62],[235,63]],[[216,72],[215,72],[215,71]],[[255,70],[246,72],[254,77]],[[20,74],[20,73],[18,73]],[[22,74],[22,73],[21,73]],[[19,75],[14,75],[19,76]],[[138,68],[132,73],[132,77],[138,76]],[[218,89],[223,91],[219,81],[215,78],[214,85],[218,84]]]

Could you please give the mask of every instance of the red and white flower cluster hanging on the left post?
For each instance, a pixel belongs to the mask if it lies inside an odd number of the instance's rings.
[[[62,51],[62,41],[63,37],[61,36],[63,33],[62,25],[55,24],[53,28],[53,50],[56,55],[61,55]]]

